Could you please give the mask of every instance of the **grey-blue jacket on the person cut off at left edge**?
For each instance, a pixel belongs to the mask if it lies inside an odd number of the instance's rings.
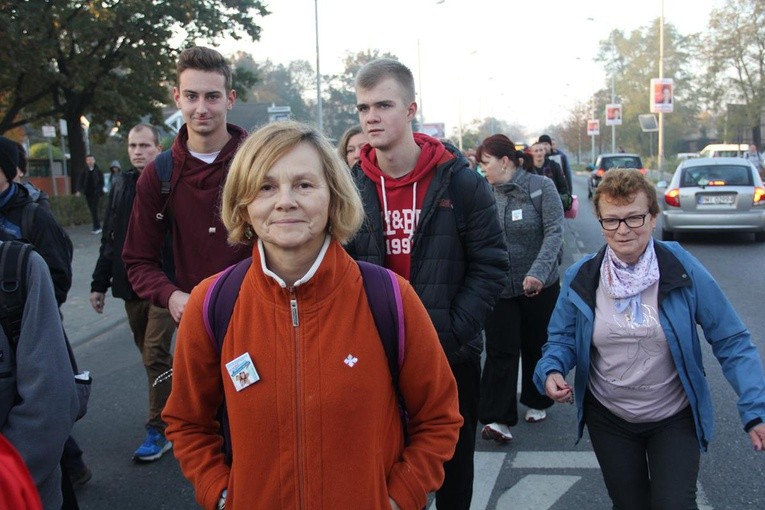
[[[78,410],[50,272],[31,252],[15,349],[0,329],[0,432],[24,459],[46,510],[63,502],[59,462]]]

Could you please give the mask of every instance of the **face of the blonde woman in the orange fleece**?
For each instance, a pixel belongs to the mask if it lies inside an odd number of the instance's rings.
[[[316,148],[304,142],[278,159],[247,214],[269,257],[318,254],[329,217],[329,186]]]

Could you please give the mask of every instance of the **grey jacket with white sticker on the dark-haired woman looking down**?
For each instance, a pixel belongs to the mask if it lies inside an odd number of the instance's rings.
[[[558,252],[563,245],[563,205],[553,181],[543,177],[537,211],[530,197],[531,175],[518,168],[512,179],[494,186],[499,223],[505,234],[510,279],[502,298],[523,295],[523,279],[533,276],[549,287],[558,281]]]

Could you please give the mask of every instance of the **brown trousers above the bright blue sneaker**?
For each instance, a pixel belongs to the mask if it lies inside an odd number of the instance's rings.
[[[164,433],[162,410],[170,396],[172,380],[167,378],[156,385],[154,382],[173,367],[170,349],[175,333],[175,321],[169,310],[154,306],[147,300],[125,301],[125,311],[133,332],[133,340],[141,352],[149,384],[149,418],[146,426]]]

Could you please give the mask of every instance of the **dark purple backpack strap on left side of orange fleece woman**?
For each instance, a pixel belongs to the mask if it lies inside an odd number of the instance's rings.
[[[223,349],[223,339],[226,337],[226,331],[228,331],[228,325],[231,322],[231,314],[234,313],[239,289],[241,289],[244,277],[251,265],[252,257],[240,260],[222,271],[212,285],[207,288],[202,305],[202,314],[207,335],[210,337],[218,357],[220,357]],[[222,451],[230,466],[233,451],[231,450],[231,429],[228,424],[225,396],[218,408],[217,418],[218,423],[220,423],[220,433],[223,436]]]

